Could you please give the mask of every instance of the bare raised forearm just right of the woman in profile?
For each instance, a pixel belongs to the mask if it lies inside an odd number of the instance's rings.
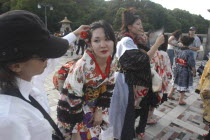
[[[164,43],[164,35],[160,35],[155,44],[151,47],[151,49],[147,52],[147,55],[149,56],[149,58],[152,58],[153,55],[155,54],[155,52],[157,51],[158,47]]]

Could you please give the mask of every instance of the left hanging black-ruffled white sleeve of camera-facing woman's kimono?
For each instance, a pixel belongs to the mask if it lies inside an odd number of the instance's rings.
[[[83,121],[84,77],[83,66],[75,66],[70,70],[58,102],[58,121],[68,132],[71,132],[77,123]]]

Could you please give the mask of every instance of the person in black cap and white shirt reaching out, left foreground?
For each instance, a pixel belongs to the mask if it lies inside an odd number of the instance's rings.
[[[1,140],[51,140],[52,127],[60,132],[31,81],[45,71],[48,59],[64,55],[69,43],[86,28],[82,25],[59,38],[50,35],[40,18],[28,11],[0,15]]]

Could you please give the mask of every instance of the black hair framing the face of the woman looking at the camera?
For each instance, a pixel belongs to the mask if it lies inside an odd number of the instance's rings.
[[[99,20],[99,21],[93,22],[90,25],[90,28],[91,30],[89,31],[89,35],[88,35],[89,42],[91,42],[92,32],[98,28],[103,28],[106,38],[114,42],[114,49],[113,49],[113,54],[112,54],[112,60],[113,60],[114,55],[116,53],[117,42],[116,42],[116,38],[115,38],[114,30],[112,29],[112,26],[104,20]]]

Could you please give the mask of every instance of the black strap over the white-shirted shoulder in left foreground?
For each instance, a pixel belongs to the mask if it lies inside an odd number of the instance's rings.
[[[64,140],[63,134],[61,133],[61,131],[59,130],[58,126],[55,124],[55,122],[53,121],[53,119],[50,117],[50,115],[45,111],[45,109],[31,95],[29,95],[29,99],[31,100],[31,102],[30,102],[30,101],[26,100],[23,97],[23,95],[20,93],[20,91],[18,89],[8,90],[8,91],[1,91],[1,93],[2,94],[5,94],[5,95],[10,95],[10,96],[18,97],[18,98],[26,101],[27,103],[31,104],[33,107],[37,108],[42,113],[42,115],[44,116],[44,118],[46,120],[48,120],[48,122],[50,123],[50,125],[55,130],[56,134],[62,140]]]

